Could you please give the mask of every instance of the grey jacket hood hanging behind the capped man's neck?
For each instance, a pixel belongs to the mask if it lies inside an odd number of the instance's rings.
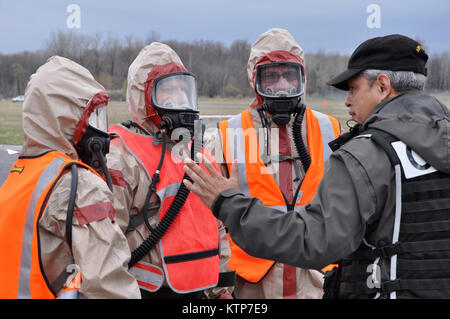
[[[450,173],[450,114],[435,97],[411,91],[385,100],[362,123],[402,140],[439,171]]]

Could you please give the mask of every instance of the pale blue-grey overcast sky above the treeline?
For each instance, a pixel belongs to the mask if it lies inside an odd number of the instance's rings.
[[[79,12],[67,12],[70,4]],[[310,53],[350,54],[364,40],[392,33],[424,40],[430,54],[450,53],[448,0],[0,0],[4,54],[41,49],[58,30],[121,39],[155,31],[162,42],[229,45],[253,43],[272,27],[288,29]]]

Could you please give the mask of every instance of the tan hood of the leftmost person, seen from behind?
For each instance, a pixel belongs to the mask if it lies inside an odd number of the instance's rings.
[[[92,74],[69,59],[49,58],[31,75],[25,90],[23,155],[56,150],[78,160],[74,145],[88,125],[83,111],[94,103],[106,105],[108,94]]]

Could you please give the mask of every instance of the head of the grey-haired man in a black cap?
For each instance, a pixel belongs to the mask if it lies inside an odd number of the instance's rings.
[[[373,38],[362,43],[350,57],[348,69],[327,84],[349,91],[345,105],[352,119],[362,123],[382,100],[422,90],[427,59],[422,46],[405,36]]]

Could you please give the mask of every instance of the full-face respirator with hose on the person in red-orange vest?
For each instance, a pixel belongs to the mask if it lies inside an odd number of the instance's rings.
[[[160,174],[165,173],[161,172],[161,170],[166,158],[166,132],[172,134],[173,131],[178,128],[189,130],[190,139],[185,140],[185,135],[183,134],[182,140],[183,142],[189,142],[193,139],[191,144],[191,159],[194,160],[195,154],[202,152],[202,141],[200,140],[199,143],[198,137],[194,137],[194,127],[200,124],[200,122],[196,122],[199,120],[199,111],[197,106],[195,77],[187,72],[176,72],[156,78],[153,84],[151,101],[156,113],[162,120],[159,123],[160,131],[155,135],[153,140],[154,144],[162,144],[161,156],[158,167],[151,177],[151,184],[146,195],[145,205],[142,209],[144,222],[150,231],[150,235],[141,243],[141,245],[139,245],[139,247],[132,251],[131,259],[128,263],[130,268],[148,254],[148,252],[161,240],[161,237],[175,220],[181,207],[183,207],[189,196],[189,190],[183,183],[180,183],[180,188],[178,189],[172,204],[158,226],[153,228],[150,225],[148,221],[150,216],[148,203],[150,202],[152,194],[156,192],[156,185],[160,180]],[[203,134],[202,130],[200,130],[200,132]],[[192,181],[190,176],[186,173],[180,181],[183,179]]]

